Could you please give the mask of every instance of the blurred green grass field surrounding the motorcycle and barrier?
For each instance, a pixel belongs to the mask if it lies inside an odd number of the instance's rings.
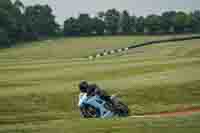
[[[118,94],[132,115],[200,107],[200,40],[83,58],[171,37],[61,38],[0,50],[0,133],[199,133],[200,113],[84,120],[76,107],[80,80]]]

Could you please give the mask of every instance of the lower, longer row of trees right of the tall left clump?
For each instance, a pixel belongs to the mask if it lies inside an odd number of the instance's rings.
[[[200,32],[200,11],[193,13],[168,11],[162,15],[136,17],[128,11],[110,9],[100,12],[96,17],[80,14],[64,22],[65,35],[102,35],[102,34],[161,34]]]

